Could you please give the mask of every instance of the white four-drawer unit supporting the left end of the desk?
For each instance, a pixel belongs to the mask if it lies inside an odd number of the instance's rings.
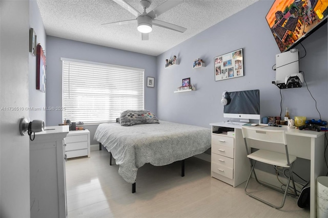
[[[236,187],[247,181],[250,161],[240,128],[234,131],[215,134],[213,131],[225,126],[223,123],[210,123],[212,126],[211,177]]]

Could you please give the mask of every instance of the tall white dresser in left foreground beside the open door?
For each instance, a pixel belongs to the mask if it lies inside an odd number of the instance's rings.
[[[30,141],[31,217],[67,216],[63,140],[68,132],[69,126],[48,126]]]

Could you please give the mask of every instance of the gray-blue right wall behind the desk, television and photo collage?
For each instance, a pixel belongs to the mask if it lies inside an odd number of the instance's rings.
[[[280,53],[265,20],[273,1],[259,1],[226,20],[199,33],[157,57],[157,116],[159,119],[210,127],[223,120],[220,103],[224,90],[260,90],[262,116],[280,115],[280,90],[275,80],[275,55]],[[300,70],[323,120],[328,119],[327,25],[302,42],[306,56],[300,60]],[[214,81],[214,57],[243,48],[244,76]],[[304,49],[296,47],[300,56]],[[177,55],[178,66],[164,68],[165,59]],[[193,59],[202,58],[205,68],[192,69]],[[183,78],[191,78],[197,90],[173,93]],[[319,114],[305,83],[302,88],[281,90],[282,107],[290,108],[291,117],[318,119]],[[284,112],[283,112],[284,113]],[[283,114],[282,114],[283,116]]]

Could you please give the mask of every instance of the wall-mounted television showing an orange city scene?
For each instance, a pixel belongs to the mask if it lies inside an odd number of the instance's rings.
[[[265,17],[281,52],[327,23],[327,0],[275,0]]]

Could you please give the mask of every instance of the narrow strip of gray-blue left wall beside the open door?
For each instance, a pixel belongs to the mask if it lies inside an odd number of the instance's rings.
[[[37,43],[40,43],[46,52],[46,31],[36,1],[30,1],[30,28],[34,29]],[[47,91],[46,91],[47,92]],[[46,93],[36,90],[36,56],[29,53],[29,106],[43,108],[46,106]],[[46,121],[46,111],[29,111],[30,120]]]

